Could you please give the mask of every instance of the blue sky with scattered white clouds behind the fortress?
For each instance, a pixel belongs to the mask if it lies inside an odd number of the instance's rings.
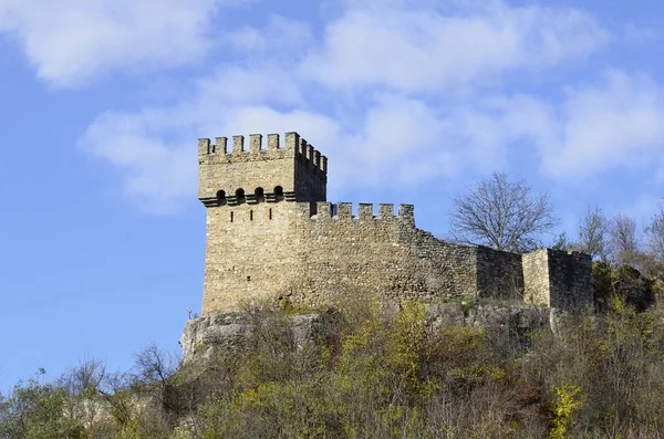
[[[414,203],[492,170],[644,223],[664,196],[656,0],[0,0],[0,390],[177,349],[200,309],[198,137],[299,132],[329,199]],[[553,237],[551,237],[553,239]]]

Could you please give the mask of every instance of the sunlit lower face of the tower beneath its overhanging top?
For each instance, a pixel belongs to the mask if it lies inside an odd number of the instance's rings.
[[[291,285],[300,264],[290,220],[295,210],[292,202],[207,209],[204,315],[238,311]]]

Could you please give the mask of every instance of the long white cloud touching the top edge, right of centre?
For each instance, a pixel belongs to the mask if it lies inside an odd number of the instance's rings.
[[[454,11],[400,1],[349,4],[302,67],[332,87],[449,92],[496,81],[505,72],[583,56],[609,39],[593,17],[574,9],[495,1],[474,8],[463,3]]]

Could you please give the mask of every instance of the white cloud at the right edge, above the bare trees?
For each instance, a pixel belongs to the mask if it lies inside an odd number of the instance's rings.
[[[662,161],[664,91],[646,76],[613,70],[600,83],[570,87],[559,114],[551,121],[558,137],[539,142],[553,176],[578,180]]]

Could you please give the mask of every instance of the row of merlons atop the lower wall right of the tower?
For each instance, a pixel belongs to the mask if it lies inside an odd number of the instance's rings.
[[[393,203],[380,203],[377,215],[374,215],[374,205],[371,202],[357,203],[357,215],[353,215],[352,202],[326,202],[319,201],[315,205],[302,203],[302,208],[313,220],[401,220],[415,224],[415,215],[413,205],[398,205],[397,213],[394,213]]]

